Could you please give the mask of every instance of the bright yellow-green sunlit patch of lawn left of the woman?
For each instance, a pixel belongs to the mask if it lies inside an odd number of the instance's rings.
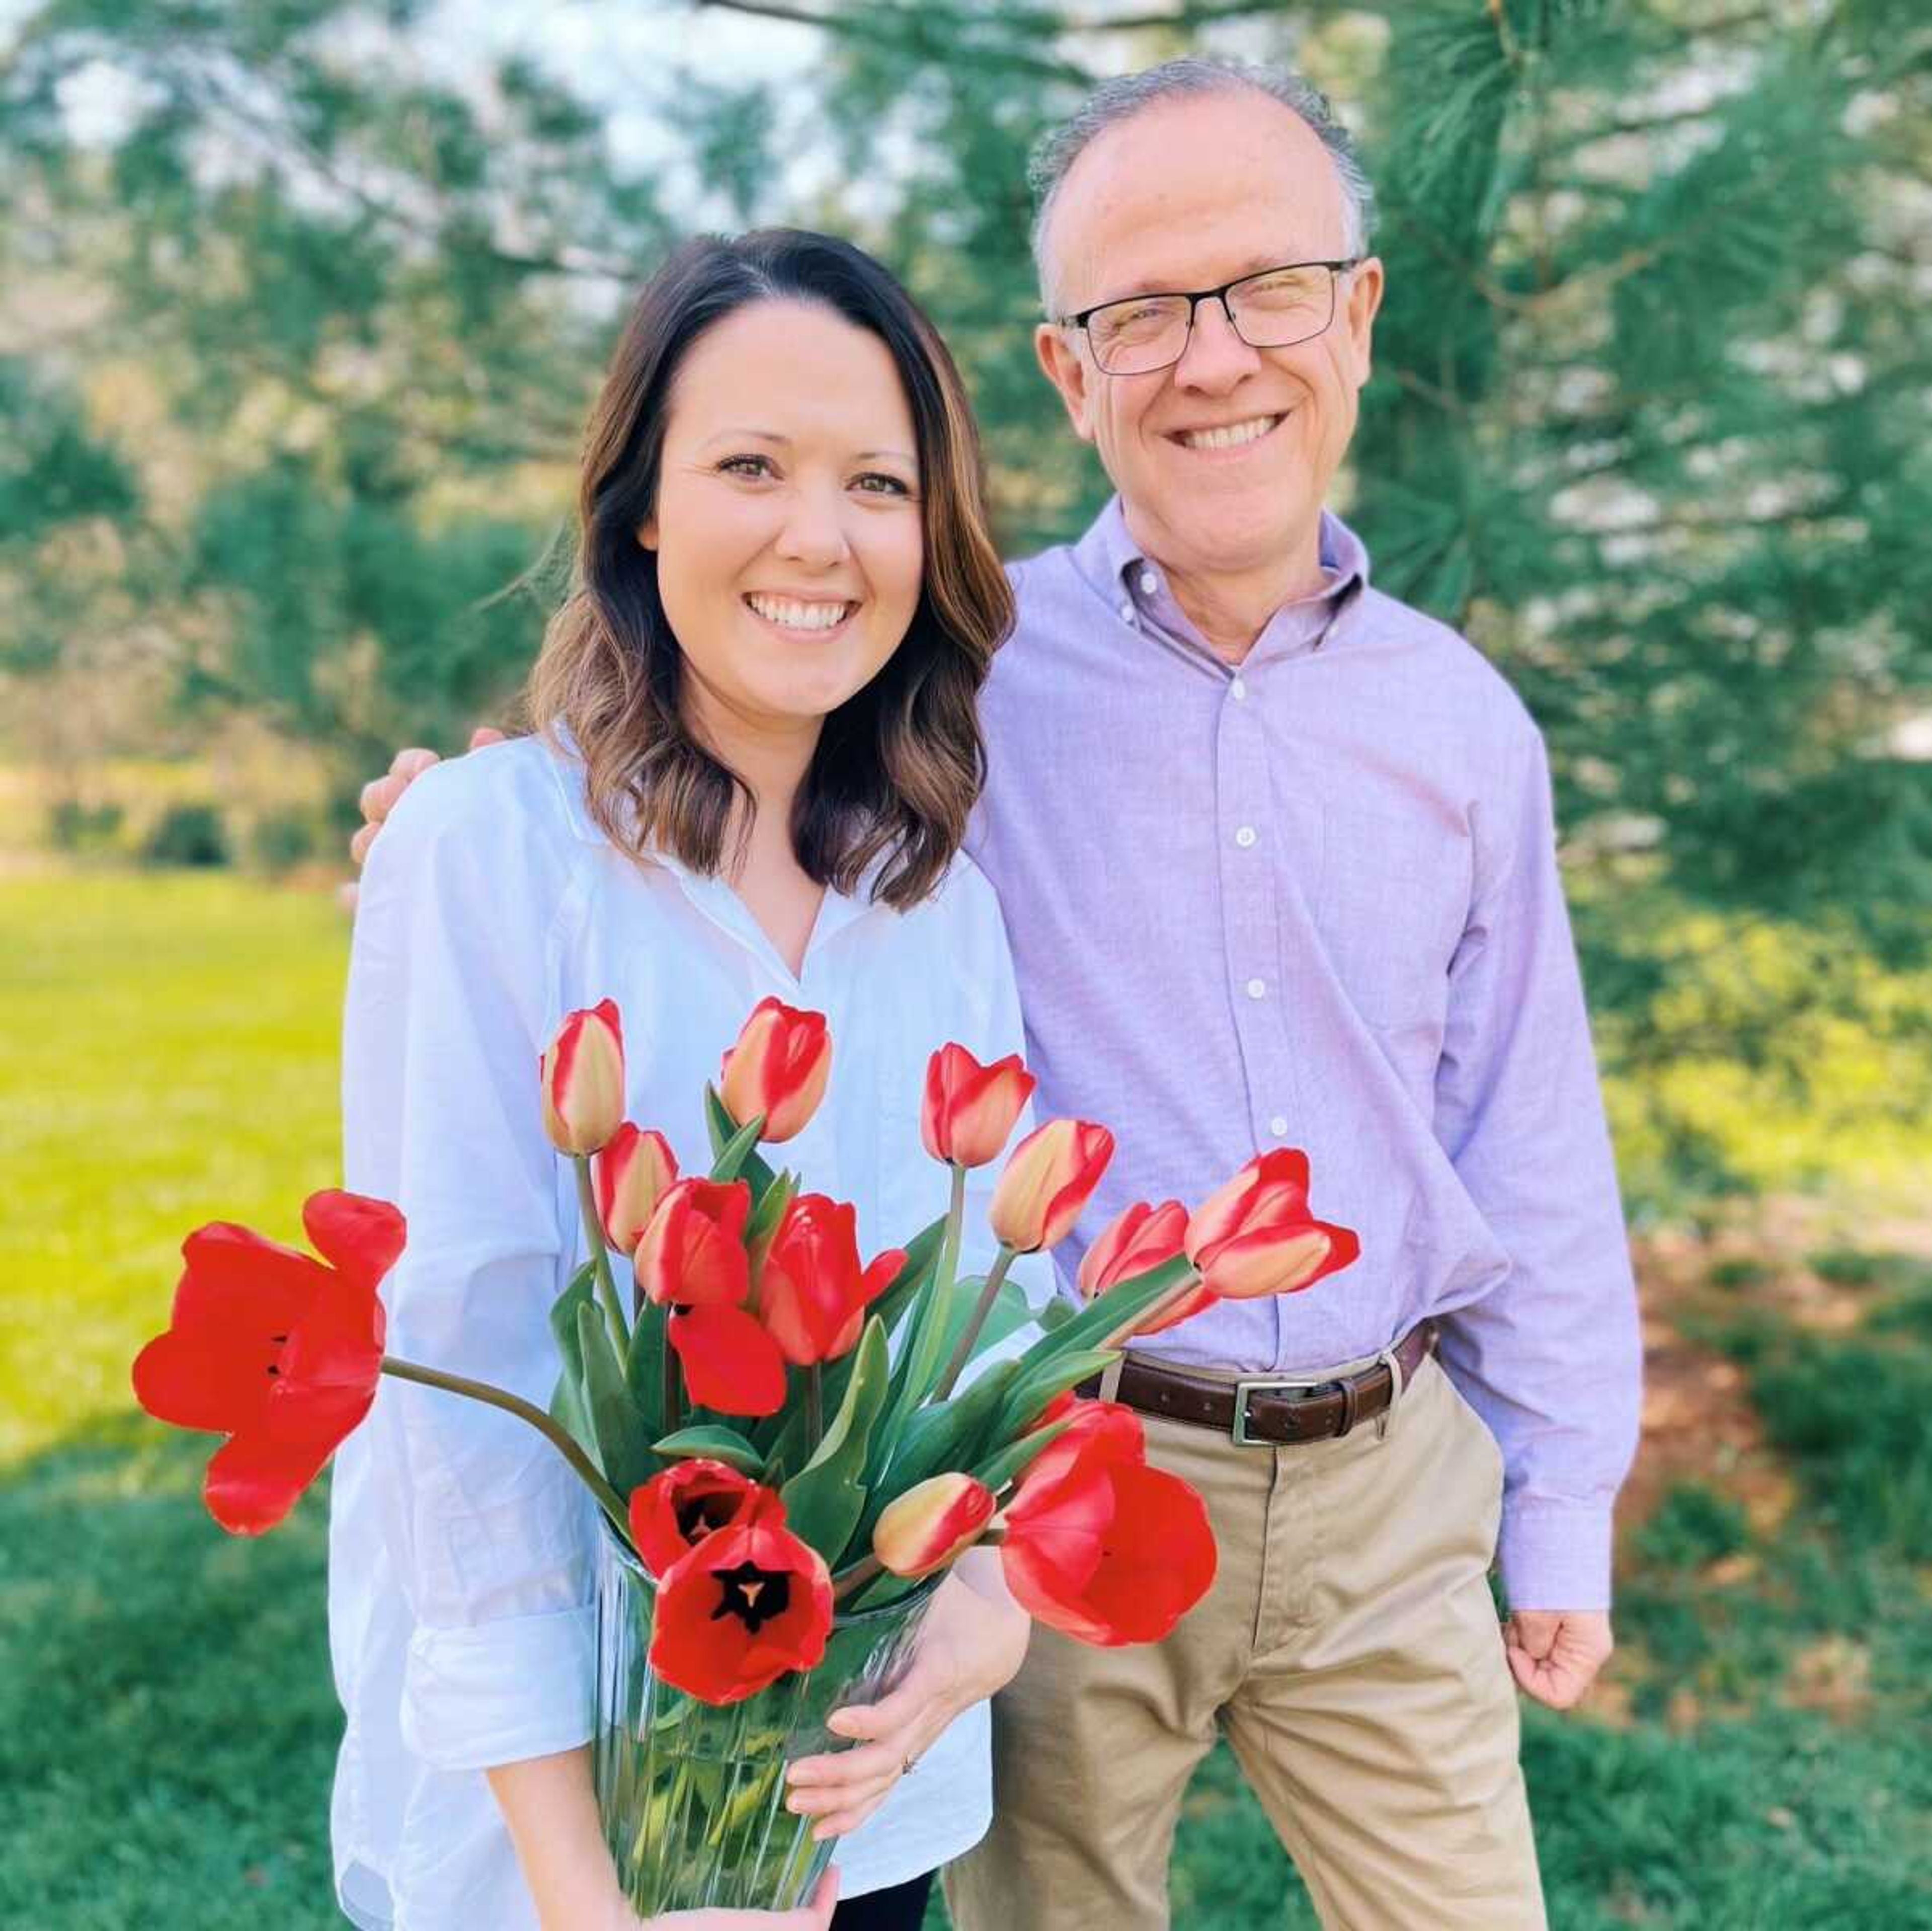
[[[129,1405],[203,1220],[340,1177],[348,920],[228,876],[0,878],[0,1461]]]

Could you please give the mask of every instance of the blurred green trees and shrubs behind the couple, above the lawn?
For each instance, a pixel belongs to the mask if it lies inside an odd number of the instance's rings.
[[[394,746],[491,715],[566,566],[601,356],[690,226],[877,249],[972,379],[1009,549],[1076,533],[1103,479],[1032,361],[1026,149],[1099,73],[1275,56],[1345,104],[1383,203],[1343,508],[1549,736],[1633,1196],[1909,1185],[1918,0],[15,14],[0,752],[44,835],[334,858]]]

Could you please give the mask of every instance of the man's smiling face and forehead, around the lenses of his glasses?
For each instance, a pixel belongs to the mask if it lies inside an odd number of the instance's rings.
[[[1213,288],[1289,261],[1347,255],[1343,193],[1320,139],[1248,89],[1159,102],[1099,135],[1053,209],[1053,307]],[[1134,537],[1171,570],[1244,576],[1314,562],[1321,503],[1370,369],[1381,265],[1341,276],[1327,331],[1250,348],[1219,302],[1194,311],[1186,354],[1105,375],[1086,336],[1047,325],[1041,367],[1099,450]],[[1265,433],[1252,441],[1208,431]]]

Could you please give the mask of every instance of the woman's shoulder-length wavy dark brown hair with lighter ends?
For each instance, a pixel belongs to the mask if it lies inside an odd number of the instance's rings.
[[[657,501],[670,387],[692,344],[752,302],[815,302],[875,334],[898,367],[920,458],[923,576],[904,642],[819,735],[792,845],[808,876],[873,897],[927,897],[985,779],[976,698],[1012,628],[1012,591],[985,520],[980,435],[939,332],[869,255],[825,234],[763,228],[686,242],[632,309],[591,412],[578,491],[576,588],[526,690],[531,723],[568,731],[589,810],[634,856],[655,843],[697,872],[724,866],[732,802],[750,791],[684,721],[682,653],[638,543]]]

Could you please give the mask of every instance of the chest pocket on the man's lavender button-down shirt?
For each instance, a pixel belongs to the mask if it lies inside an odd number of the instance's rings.
[[[1420,806],[1323,800],[1316,926],[1370,1024],[1441,1038],[1468,895],[1470,843],[1459,827]]]

